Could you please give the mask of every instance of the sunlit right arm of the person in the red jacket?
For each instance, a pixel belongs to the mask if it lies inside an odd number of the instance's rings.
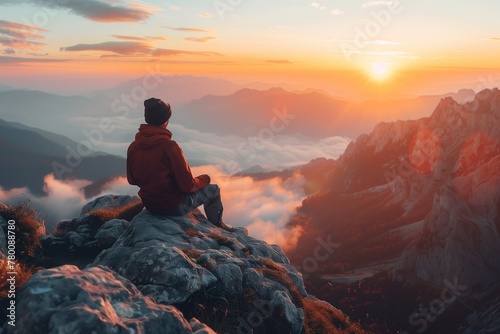
[[[172,172],[174,173],[177,186],[182,192],[191,193],[210,184],[210,176],[206,174],[193,177],[184,153],[177,143],[173,143],[169,153],[170,161],[172,162]]]

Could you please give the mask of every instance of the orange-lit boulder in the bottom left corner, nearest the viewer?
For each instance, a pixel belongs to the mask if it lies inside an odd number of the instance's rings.
[[[156,304],[106,267],[40,271],[16,300],[20,317],[15,327],[4,326],[9,333],[214,333],[175,307]]]

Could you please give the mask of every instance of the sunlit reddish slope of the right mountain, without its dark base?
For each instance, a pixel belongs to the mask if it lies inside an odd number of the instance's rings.
[[[498,89],[465,104],[445,98],[429,118],[377,125],[349,145],[325,177],[329,189],[306,199],[290,223],[304,228],[292,261],[301,265],[317,238],[331,235],[341,245],[318,273],[392,260],[399,274],[429,284],[498,281],[499,138]]]

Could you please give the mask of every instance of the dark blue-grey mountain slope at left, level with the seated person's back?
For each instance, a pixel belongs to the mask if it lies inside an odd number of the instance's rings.
[[[68,138],[0,120],[0,186],[43,194],[43,179],[50,173],[90,181],[125,175],[124,158],[100,152],[80,155],[78,148]]]

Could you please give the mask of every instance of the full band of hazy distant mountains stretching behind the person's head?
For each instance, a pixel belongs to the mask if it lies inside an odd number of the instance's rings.
[[[257,90],[222,79],[151,74],[87,95],[0,89],[0,117],[76,141],[84,139],[83,130],[98,127],[106,118],[115,127],[100,149],[123,155],[123,148],[116,149],[116,144],[132,139],[138,124],[143,122],[143,100],[150,96],[171,103],[172,124],[202,133],[249,137],[272,128],[274,134],[317,140],[332,136],[355,138],[381,121],[428,116],[428,111],[444,96],[466,100],[473,95],[471,90],[462,90],[435,96],[352,102],[315,89]],[[284,118],[286,115],[290,117]],[[328,121],[318,121],[325,119]],[[290,122],[282,127],[276,123],[280,120]]]

